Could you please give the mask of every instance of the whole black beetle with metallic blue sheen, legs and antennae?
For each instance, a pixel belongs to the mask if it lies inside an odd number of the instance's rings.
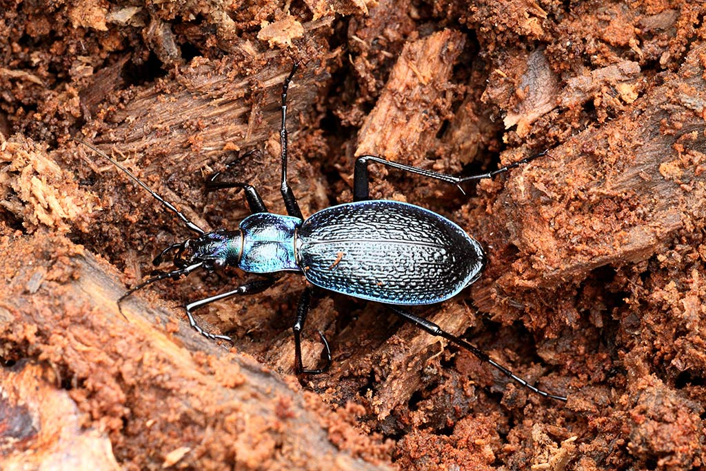
[[[128,290],[118,303],[153,282],[167,278],[177,280],[197,269],[213,272],[230,266],[240,268],[246,273],[261,275],[262,278],[246,282],[234,290],[186,305],[189,324],[198,333],[212,340],[231,340],[227,335],[215,335],[203,330],[196,323],[193,311],[221,299],[262,292],[275,284],[277,274],[298,272],[304,275],[309,284],[299,299],[297,316],[292,327],[294,366],[297,373],[321,373],[328,368],[331,361],[330,347],[321,332],[319,335],[326,354],[325,366],[305,369],[301,361],[301,331],[309,312],[314,286],[385,304],[405,321],[468,350],[481,361],[491,364],[534,393],[566,402],[565,396],[540,390],[469,342],[407,310],[408,306],[444,302],[464,290],[479,278],[486,265],[486,254],[479,242],[446,217],[417,205],[371,200],[369,197],[370,162],[459,186],[467,181],[489,179],[508,172],[545,153],[513,162],[493,172],[470,177],[432,172],[385,160],[376,155],[360,155],[354,167],[353,201],[325,208],[304,218],[287,181],[287,90],[298,65],[294,64],[282,85],[280,191],[287,215],[270,213],[258,191],[250,184],[222,180],[224,172],[231,168],[231,162],[225,166],[225,171],[215,172],[206,179],[206,188],[242,189],[251,215],[245,217],[236,230],[216,229],[205,232],[119,162],[94,145],[76,139],[112,162],[196,233],[196,237],[167,246],[155,257],[153,263],[159,266],[167,255],[173,254],[171,270],[153,273],[151,278]],[[254,153],[256,151],[251,150],[244,157]]]

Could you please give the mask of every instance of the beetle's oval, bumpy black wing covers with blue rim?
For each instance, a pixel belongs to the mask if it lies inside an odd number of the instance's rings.
[[[299,228],[299,266],[313,285],[389,304],[432,304],[472,283],[483,249],[419,206],[360,201],[321,210]]]

